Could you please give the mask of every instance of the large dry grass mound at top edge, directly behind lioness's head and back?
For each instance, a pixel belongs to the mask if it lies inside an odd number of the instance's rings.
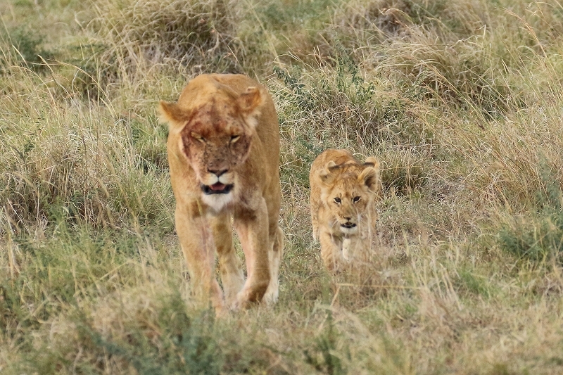
[[[99,1],[90,28],[106,44],[101,61],[127,77],[167,63],[194,72],[239,72],[236,1]],[[179,67],[177,67],[179,68]]]

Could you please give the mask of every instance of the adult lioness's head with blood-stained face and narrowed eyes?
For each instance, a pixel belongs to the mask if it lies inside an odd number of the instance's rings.
[[[218,211],[232,201],[237,189],[239,167],[255,136],[262,93],[248,87],[237,94],[212,78],[200,77],[182,91],[178,103],[161,101],[160,114],[170,125],[175,153],[185,157],[195,172],[202,201]],[[169,147],[170,143],[169,138]]]

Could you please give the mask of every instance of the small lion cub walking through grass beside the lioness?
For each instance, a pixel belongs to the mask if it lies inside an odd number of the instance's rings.
[[[379,161],[360,163],[346,150],[327,150],[312,163],[309,182],[312,236],[321,243],[324,265],[334,271],[372,245]]]

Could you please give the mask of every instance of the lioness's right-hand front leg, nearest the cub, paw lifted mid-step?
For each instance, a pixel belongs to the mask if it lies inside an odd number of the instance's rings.
[[[236,307],[262,300],[270,284],[270,257],[273,243],[268,236],[265,201],[256,210],[236,212],[234,225],[246,258],[246,283],[236,295]]]

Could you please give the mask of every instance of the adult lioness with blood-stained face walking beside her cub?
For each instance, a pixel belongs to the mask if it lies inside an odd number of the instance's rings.
[[[177,103],[160,101],[160,113],[169,123],[176,231],[194,292],[210,298],[217,312],[276,302],[283,232],[272,98],[244,75],[199,75]],[[246,282],[231,222],[246,258]],[[224,297],[215,279],[215,253]]]

